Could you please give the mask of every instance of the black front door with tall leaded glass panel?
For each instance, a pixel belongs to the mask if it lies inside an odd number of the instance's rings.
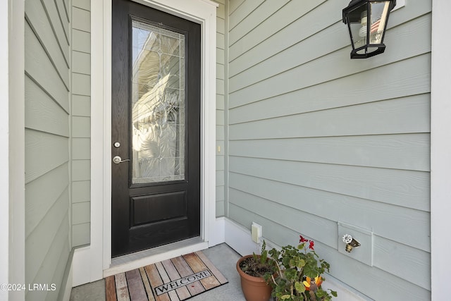
[[[113,0],[111,254],[200,235],[200,25]]]

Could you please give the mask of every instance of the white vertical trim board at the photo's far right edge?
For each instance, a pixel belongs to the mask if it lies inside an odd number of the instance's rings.
[[[451,257],[450,1],[432,1],[431,48],[431,299],[449,298]]]

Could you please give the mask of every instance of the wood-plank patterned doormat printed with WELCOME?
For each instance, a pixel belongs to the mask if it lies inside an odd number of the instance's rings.
[[[194,252],[105,278],[106,301],[181,301],[224,283],[205,254]]]

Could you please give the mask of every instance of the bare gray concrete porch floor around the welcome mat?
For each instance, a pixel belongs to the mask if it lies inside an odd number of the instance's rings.
[[[190,298],[190,301],[245,301],[242,295],[240,276],[235,269],[235,264],[240,258],[235,250],[225,243],[203,250],[206,257],[227,278],[228,283],[206,291],[200,295]],[[70,301],[104,301],[105,282],[99,280],[93,283],[77,286],[70,293]]]

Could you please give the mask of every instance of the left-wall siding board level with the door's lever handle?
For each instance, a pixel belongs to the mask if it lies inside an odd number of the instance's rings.
[[[25,183],[30,183],[68,160],[68,138],[25,130]]]

